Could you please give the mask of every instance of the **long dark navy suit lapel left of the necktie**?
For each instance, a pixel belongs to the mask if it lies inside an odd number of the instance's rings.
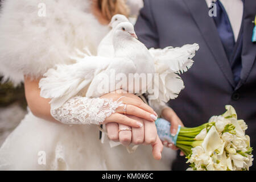
[[[214,24],[213,18],[208,15],[208,7],[205,0],[183,0],[191,12],[199,30],[207,43],[214,59],[216,60],[221,71],[229,81],[230,85],[235,88],[232,69],[229,60],[226,57],[224,47],[222,46],[220,36]],[[199,45],[200,46],[200,45]]]

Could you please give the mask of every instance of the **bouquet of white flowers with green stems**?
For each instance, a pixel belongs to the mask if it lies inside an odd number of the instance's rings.
[[[245,135],[247,125],[237,119],[232,106],[225,108],[224,114],[211,117],[201,126],[179,127],[173,141],[186,155],[187,163],[191,163],[188,170],[240,171],[249,170],[252,165],[253,148],[250,147],[250,137]]]

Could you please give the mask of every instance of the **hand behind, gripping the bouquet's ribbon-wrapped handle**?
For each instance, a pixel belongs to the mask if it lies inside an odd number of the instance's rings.
[[[162,117],[171,123],[171,135],[175,136],[177,134],[177,129],[180,126],[184,126],[181,122],[180,118],[177,116],[174,110],[170,107],[166,107],[162,110]],[[167,141],[163,141],[164,146],[171,148],[172,150],[178,150],[173,143],[168,143]],[[184,156],[183,152],[180,152],[181,156]]]

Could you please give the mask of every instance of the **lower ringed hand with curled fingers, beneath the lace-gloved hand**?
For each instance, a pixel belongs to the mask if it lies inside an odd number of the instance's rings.
[[[118,123],[108,123],[106,129],[108,131],[108,137],[115,142],[121,142],[124,146],[129,144],[151,144],[152,155],[156,160],[162,158],[163,144],[160,141],[156,126],[154,122],[147,121],[146,119],[138,118],[133,115],[127,115],[132,119],[136,119],[141,122],[143,126],[141,128],[131,128],[131,131],[119,131],[119,129],[127,128],[125,125],[118,125]]]

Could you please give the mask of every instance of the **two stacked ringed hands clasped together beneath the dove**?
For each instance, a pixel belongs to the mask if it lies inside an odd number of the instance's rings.
[[[124,106],[119,106],[114,114],[105,119],[104,123],[109,139],[121,142],[124,146],[150,144],[152,155],[156,160],[160,160],[163,144],[156,131],[155,120],[157,114],[155,111],[144,104],[141,98],[130,93],[109,93],[101,98],[111,98],[112,100],[121,98],[123,105],[126,105],[126,114],[123,114]],[[121,129],[125,130],[121,131]]]

